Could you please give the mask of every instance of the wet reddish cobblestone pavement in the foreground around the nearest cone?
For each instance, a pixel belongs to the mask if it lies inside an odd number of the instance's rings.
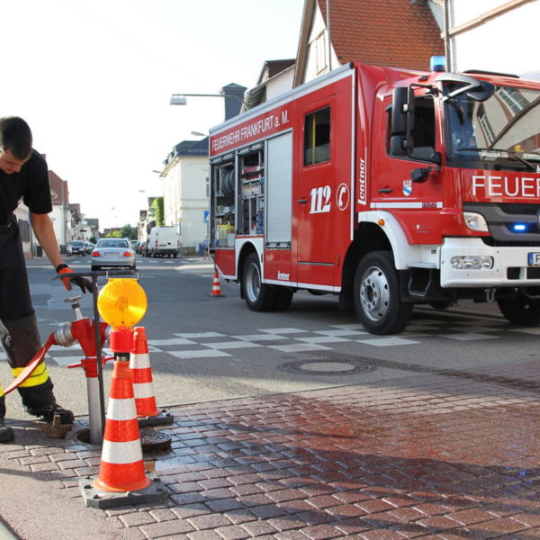
[[[145,453],[166,500],[113,509],[78,487],[99,446],[14,421],[0,515],[27,540],[540,538],[539,396],[523,362],[173,408]]]

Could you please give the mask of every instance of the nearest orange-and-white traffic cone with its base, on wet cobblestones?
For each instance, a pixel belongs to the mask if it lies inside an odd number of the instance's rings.
[[[103,509],[166,495],[160,481],[145,473],[129,364],[114,362],[99,477],[79,484],[86,506]]]

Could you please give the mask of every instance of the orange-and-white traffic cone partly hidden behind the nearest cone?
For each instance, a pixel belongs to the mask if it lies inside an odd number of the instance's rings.
[[[139,426],[171,424],[173,416],[165,410],[157,409],[152,369],[150,368],[150,357],[148,355],[148,342],[144,327],[137,327],[133,330],[130,372]]]

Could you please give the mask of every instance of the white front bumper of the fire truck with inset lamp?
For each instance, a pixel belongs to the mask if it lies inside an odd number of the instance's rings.
[[[540,285],[540,246],[491,247],[481,238],[446,238],[440,247],[441,286]]]

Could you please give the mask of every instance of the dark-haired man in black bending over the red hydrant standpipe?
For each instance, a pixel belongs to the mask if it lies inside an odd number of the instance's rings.
[[[45,158],[32,148],[31,130],[22,118],[0,118],[0,339],[14,377],[23,371],[40,350],[40,334],[31,305],[23,245],[14,216],[21,199],[31,215],[31,227],[51,265],[67,290],[71,283],[83,293],[92,284],[81,277],[69,278],[71,270],[62,261],[49,212],[52,211],[49,169]],[[73,413],[61,408],[52,392],[45,363],[18,387],[23,406],[46,422],[55,415],[63,424],[73,422]],[[5,397],[0,384],[0,442],[14,438],[14,430],[4,425]]]

